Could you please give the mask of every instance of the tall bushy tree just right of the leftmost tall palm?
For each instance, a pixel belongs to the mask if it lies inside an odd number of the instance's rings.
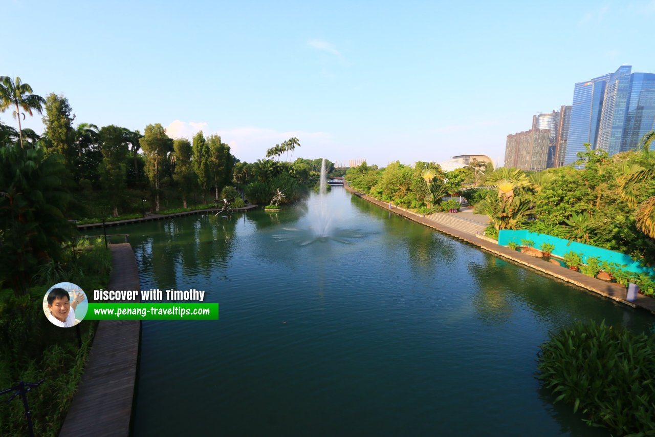
[[[43,125],[45,125],[45,133],[50,139],[45,154],[46,156],[62,154],[67,165],[71,165],[75,155],[73,152],[75,133],[72,126],[75,114],[71,114],[72,111],[67,98],[63,95],[50,93],[45,99]]]

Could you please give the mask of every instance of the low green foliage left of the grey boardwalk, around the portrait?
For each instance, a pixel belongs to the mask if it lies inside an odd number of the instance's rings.
[[[62,264],[50,268],[73,272],[66,280],[84,290],[99,289],[109,283],[111,255],[104,243],[80,240],[78,247],[69,247]],[[74,267],[73,267],[74,264]],[[44,272],[46,268],[42,269]],[[35,435],[56,436],[64,422],[73,394],[88,356],[96,322],[79,325],[82,346],[78,346],[77,329],[62,329],[48,322],[43,314],[43,295],[56,276],[37,283],[21,296],[0,290],[0,387],[18,381],[45,382],[28,395]],[[16,402],[18,401],[18,402]],[[0,408],[0,435],[28,435],[25,413],[18,400]]]

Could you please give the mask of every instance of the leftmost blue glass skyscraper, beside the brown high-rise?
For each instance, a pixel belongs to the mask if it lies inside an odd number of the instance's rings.
[[[574,163],[578,159],[577,154],[584,152],[585,143],[591,144],[592,147],[597,144],[605,89],[610,75],[607,73],[575,84],[564,165]]]

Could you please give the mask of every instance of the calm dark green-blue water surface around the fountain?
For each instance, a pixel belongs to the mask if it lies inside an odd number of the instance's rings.
[[[134,434],[602,436],[534,379],[550,329],[655,320],[334,188],[231,218],[124,226],[141,289],[218,321],[144,321]],[[320,227],[322,228],[324,224]]]

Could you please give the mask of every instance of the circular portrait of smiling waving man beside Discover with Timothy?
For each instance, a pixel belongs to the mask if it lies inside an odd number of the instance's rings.
[[[72,282],[52,285],[43,297],[43,312],[50,323],[60,327],[73,327],[81,322],[88,310],[84,290]]]

